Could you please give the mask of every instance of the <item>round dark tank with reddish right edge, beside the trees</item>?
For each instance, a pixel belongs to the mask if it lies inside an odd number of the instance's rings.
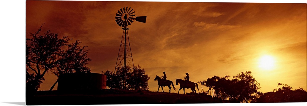
[[[106,88],[106,75],[99,73],[64,73],[59,76],[57,90],[99,90]]]

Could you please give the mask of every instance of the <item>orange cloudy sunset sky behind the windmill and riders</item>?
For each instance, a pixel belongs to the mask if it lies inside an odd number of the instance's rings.
[[[88,46],[92,73],[114,71],[123,33],[115,15],[126,6],[147,16],[128,33],[134,65],[151,77],[150,91],[157,91],[153,79],[163,71],[173,82],[185,73],[197,82],[251,71],[260,92],[273,91],[278,82],[307,88],[305,3],[26,1],[25,32],[45,23],[42,32]],[[39,90],[56,81],[52,73],[45,79]]]

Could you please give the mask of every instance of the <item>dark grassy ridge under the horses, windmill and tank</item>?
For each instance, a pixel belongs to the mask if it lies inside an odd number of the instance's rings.
[[[26,105],[184,104],[222,103],[202,94],[102,89],[98,91],[38,91]]]

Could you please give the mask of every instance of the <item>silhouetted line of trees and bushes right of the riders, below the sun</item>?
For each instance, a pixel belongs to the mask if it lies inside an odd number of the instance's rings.
[[[233,79],[214,76],[204,81],[199,81],[202,86],[209,88],[208,91],[200,92],[203,94],[211,94],[214,98],[229,101],[231,103],[263,103],[263,102],[306,102],[306,90],[299,88],[291,90],[292,87],[287,84],[281,84],[282,88],[274,89],[273,92],[258,92],[261,88],[255,78],[251,75],[251,71],[241,72],[234,76]]]

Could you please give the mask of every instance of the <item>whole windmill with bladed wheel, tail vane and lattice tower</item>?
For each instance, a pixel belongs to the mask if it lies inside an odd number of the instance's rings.
[[[120,43],[118,57],[116,61],[115,71],[123,69],[125,71],[125,89],[126,89],[126,71],[128,69],[133,69],[133,59],[132,59],[132,53],[130,48],[130,41],[128,36],[128,29],[127,26],[131,25],[133,20],[137,22],[143,22],[146,23],[146,16],[138,16],[135,17],[135,12],[131,7],[123,7],[120,10],[117,11],[115,15],[115,22],[118,26],[123,27],[123,33],[122,33],[122,41]],[[135,18],[134,18],[135,17]],[[131,67],[132,65],[132,67]]]

